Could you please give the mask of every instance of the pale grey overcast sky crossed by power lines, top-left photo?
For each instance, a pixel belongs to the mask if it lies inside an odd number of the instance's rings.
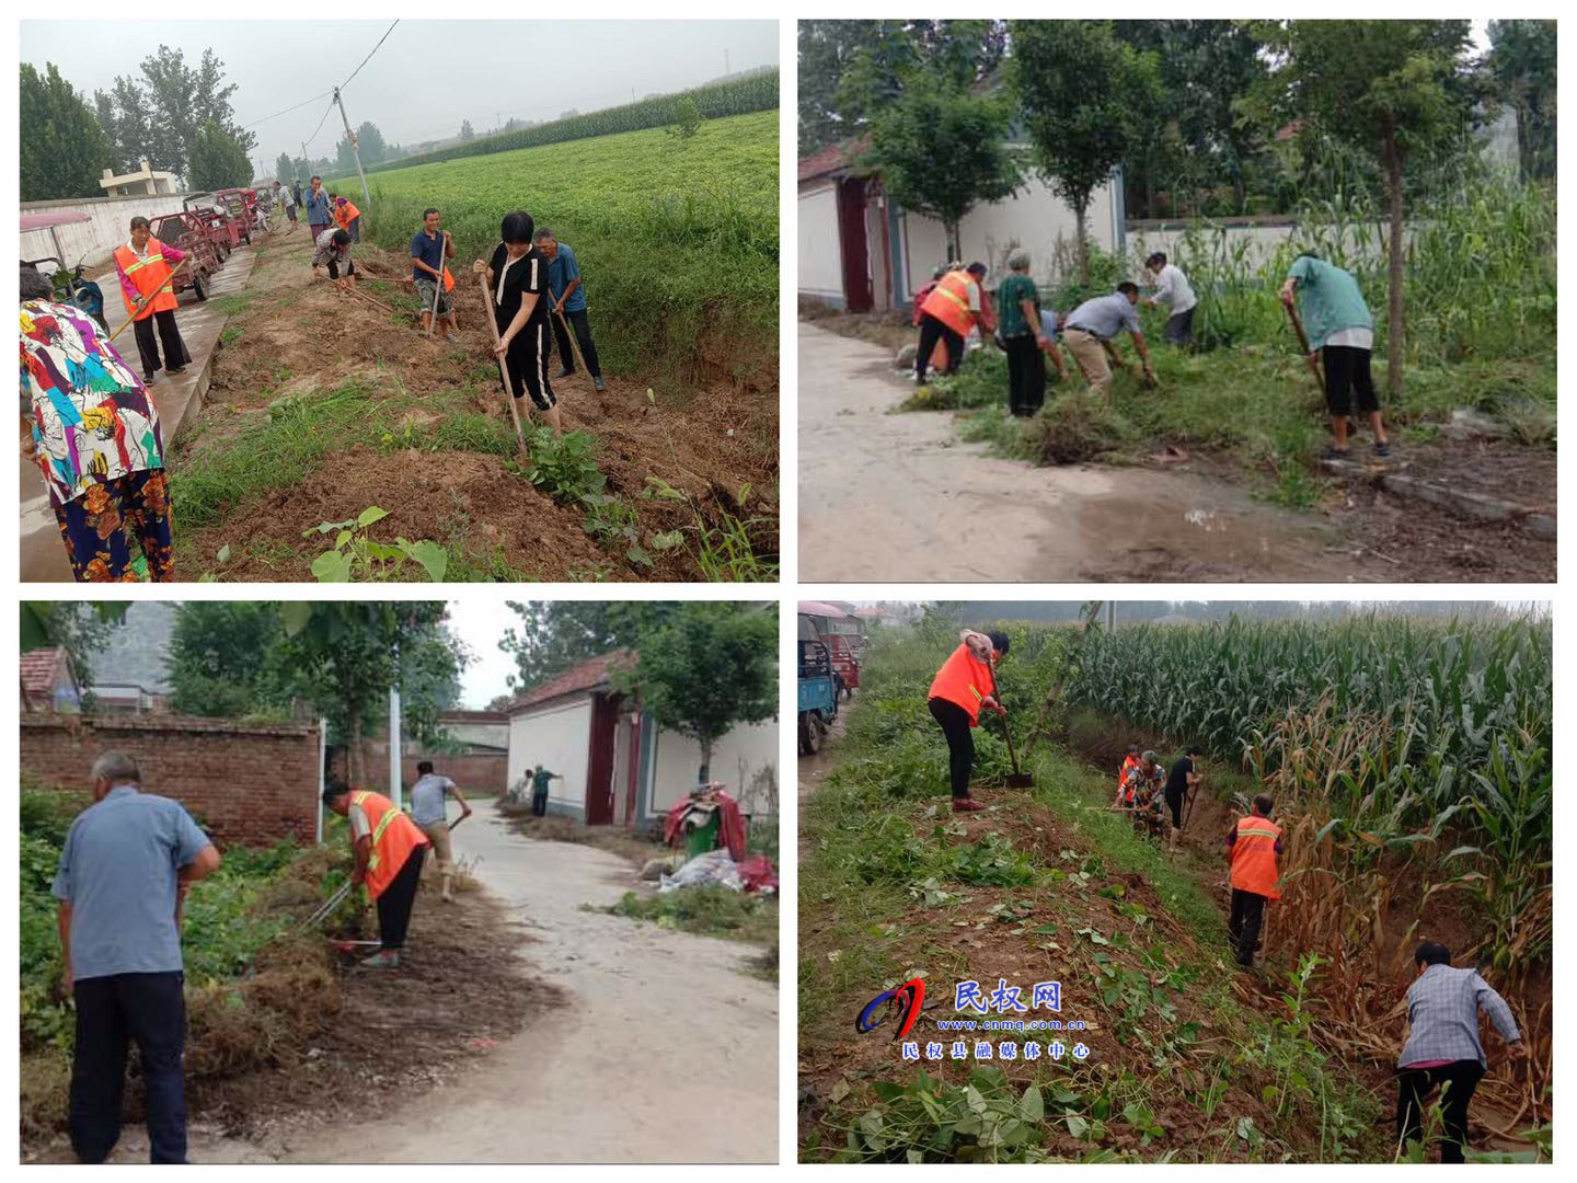
[[[181,9],[172,9],[181,11]],[[191,11],[191,9],[186,9]],[[342,85],[388,30],[388,21],[24,21],[22,60],[46,62],[88,103],[159,46],[192,66],[213,49],[237,84],[237,120],[257,125],[254,161],[273,172],[281,151],[333,156],[339,112],[323,120],[326,91]],[[352,126],[378,125],[394,144],[478,132],[511,115],[550,120],[631,96],[683,90],[725,71],[777,65],[776,21],[401,21],[345,87]],[[421,87],[418,77],[434,77]],[[325,95],[315,99],[317,95]],[[268,118],[306,99],[298,110]]]

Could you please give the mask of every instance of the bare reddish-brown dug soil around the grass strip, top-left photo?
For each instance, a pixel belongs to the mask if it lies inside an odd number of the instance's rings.
[[[408,263],[367,246],[358,248],[355,257],[363,273],[360,290],[396,309],[415,308],[412,289],[397,282],[408,274]],[[331,391],[347,380],[364,383],[374,399],[442,394],[448,407],[454,405],[454,393],[465,388],[468,410],[508,421],[483,298],[468,270],[456,273],[460,325],[456,345],[424,338],[404,312],[383,312],[356,297],[336,295],[325,278],[312,276],[308,259],[304,241],[281,235],[270,240],[252,270],[251,301],[232,317],[229,342],[214,358],[213,385],[200,426],[192,432],[196,446],[226,446],[224,438],[254,421],[270,402],[312,390]],[[555,356],[552,372],[560,366],[561,358]],[[587,431],[598,440],[598,465],[609,478],[607,491],[636,511],[645,549],[651,550],[653,533],[694,527],[697,514],[716,527],[727,513],[751,522],[754,554],[776,562],[776,390],[762,391],[744,382],[673,390],[613,375],[606,386],[595,391],[583,371],[554,382],[565,431]],[[402,418],[426,427],[443,410],[438,407],[426,421],[419,413]],[[178,465],[177,456],[172,467],[178,472]],[[681,489],[694,511],[681,500],[640,497],[654,489],[648,478]],[[320,521],[355,517],[369,505],[391,511],[374,532],[380,539],[404,535],[412,541],[443,541],[443,519],[465,514],[476,544],[490,547],[498,541],[511,563],[538,579],[568,579],[571,571],[598,563],[612,565],[615,577],[699,576],[686,549],[651,550],[656,565],[647,568],[624,557],[628,543],[599,547],[582,530],[582,509],[555,506],[509,473],[505,457],[483,453],[358,448],[336,454],[315,480],[240,506],[227,521],[205,528],[197,549],[213,555],[226,543],[278,539],[303,554],[303,562],[232,563],[226,577],[304,579],[315,549],[303,544],[301,530]]]

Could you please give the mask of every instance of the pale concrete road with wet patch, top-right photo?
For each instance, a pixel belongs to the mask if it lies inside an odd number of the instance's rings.
[[[888,349],[800,323],[800,574],[855,582],[1347,582],[1325,522],[1180,472],[1035,468],[964,443]]]

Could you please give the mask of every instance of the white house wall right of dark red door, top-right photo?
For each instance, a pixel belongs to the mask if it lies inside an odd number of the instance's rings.
[[[1117,243],[1112,199],[1112,186],[1102,185],[1091,196],[1085,215],[1090,238],[1107,251]],[[908,244],[905,267],[908,292],[904,293],[904,300],[908,301],[916,290],[930,282],[930,273],[948,260],[948,235],[941,222],[918,213],[905,213],[902,222]],[[1063,199],[1053,194],[1046,181],[1031,178],[1028,189],[1014,197],[970,210],[959,224],[959,241],[965,262],[979,260],[990,268],[987,282],[992,287],[1008,271],[1008,252],[1020,246],[1030,252],[1030,274],[1042,287],[1050,287],[1060,279],[1053,267],[1058,243],[1064,244],[1064,251],[1071,251],[1077,226],[1074,211]]]

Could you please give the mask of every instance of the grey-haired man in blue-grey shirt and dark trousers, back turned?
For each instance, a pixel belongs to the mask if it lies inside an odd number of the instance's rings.
[[[178,803],[144,793],[137,762],[93,762],[93,804],[71,823],[54,894],[63,984],[76,995],[71,1145],[103,1162],[120,1140],[126,1041],[142,1054],[153,1162],[186,1161],[181,902],[219,852]]]

